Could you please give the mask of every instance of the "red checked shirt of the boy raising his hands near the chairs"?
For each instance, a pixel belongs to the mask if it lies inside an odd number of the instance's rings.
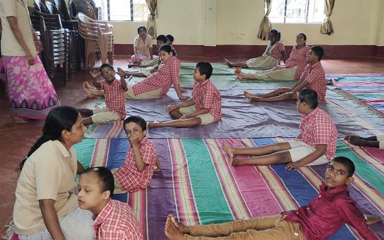
[[[99,82],[101,89],[104,89],[104,97],[106,99],[106,108],[117,113],[121,120],[125,119],[125,97],[124,93],[127,89],[121,88],[121,82],[115,80],[112,84],[106,81]]]

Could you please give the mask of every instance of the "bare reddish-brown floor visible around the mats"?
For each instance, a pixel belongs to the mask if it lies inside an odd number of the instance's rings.
[[[115,67],[125,68],[128,58],[116,57]],[[222,62],[219,58],[181,57],[182,62]],[[230,60],[245,60],[244,58],[230,58]],[[324,59],[322,64],[326,73],[383,73],[383,58],[344,58]],[[92,99],[86,99],[82,91],[82,82],[89,77],[88,73],[81,72],[71,77],[67,85],[62,80],[55,81],[56,91],[62,105],[75,107],[91,107]],[[16,125],[10,117],[8,99],[3,89],[0,91],[0,236],[5,230],[4,226],[12,216],[14,204],[14,189],[19,176],[19,163],[25,157],[30,147],[41,134],[44,121],[29,121],[23,125]]]

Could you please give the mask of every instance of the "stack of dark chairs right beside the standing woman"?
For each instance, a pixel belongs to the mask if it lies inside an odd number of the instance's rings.
[[[56,67],[62,64],[65,71],[65,82],[69,77],[69,35],[62,27],[58,14],[43,14],[38,10],[28,7],[29,16],[34,28],[41,34],[43,42],[43,64],[51,80],[54,79]]]

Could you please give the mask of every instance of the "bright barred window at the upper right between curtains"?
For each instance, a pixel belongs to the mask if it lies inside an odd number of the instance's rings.
[[[269,20],[272,23],[322,23],[324,0],[274,0]]]

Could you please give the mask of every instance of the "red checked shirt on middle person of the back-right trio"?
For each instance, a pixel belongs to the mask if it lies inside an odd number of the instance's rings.
[[[289,54],[289,58],[285,61],[285,64],[278,65],[276,69],[284,69],[289,67],[296,66],[296,75],[295,79],[300,79],[300,76],[304,72],[305,67],[307,66],[307,53],[311,51],[311,47],[305,45],[301,49],[296,48],[297,45],[293,46],[291,54]]]

